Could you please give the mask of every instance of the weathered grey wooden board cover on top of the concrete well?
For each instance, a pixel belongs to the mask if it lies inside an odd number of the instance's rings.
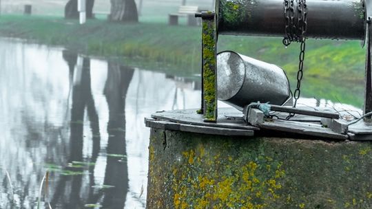
[[[286,118],[288,115],[288,113],[272,113],[279,118]],[[332,140],[372,140],[372,125],[363,121],[349,126],[350,134],[341,134],[340,131],[335,132],[322,126],[320,118],[307,115],[295,115],[291,120],[279,120],[274,117],[273,120],[259,120],[260,122],[252,125],[247,125],[243,120],[242,112],[233,108],[218,109],[217,122],[204,122],[203,115],[197,114],[196,109],[161,111],[154,113],[152,118],[154,120],[146,120],[147,126],[174,131],[251,136],[255,131],[265,133],[265,130],[271,130]],[[249,118],[249,120],[253,119]]]

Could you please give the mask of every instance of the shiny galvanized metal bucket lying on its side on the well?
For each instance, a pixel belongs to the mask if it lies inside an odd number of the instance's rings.
[[[217,55],[217,84],[218,100],[240,111],[251,102],[282,105],[291,98],[280,67],[231,51]]]

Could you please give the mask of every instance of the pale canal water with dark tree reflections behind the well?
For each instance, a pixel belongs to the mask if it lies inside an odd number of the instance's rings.
[[[0,39],[0,208],[145,208],[143,118],[199,103],[192,80]]]

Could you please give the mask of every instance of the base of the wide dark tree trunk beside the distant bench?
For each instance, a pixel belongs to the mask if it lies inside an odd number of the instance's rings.
[[[138,22],[138,12],[134,0],[111,0],[111,21]]]

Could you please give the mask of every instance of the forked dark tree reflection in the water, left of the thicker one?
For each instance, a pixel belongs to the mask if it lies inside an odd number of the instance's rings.
[[[70,120],[70,152],[68,162],[65,164],[74,164],[74,162],[83,162],[83,121],[85,112],[89,118],[90,129],[92,131],[92,155],[90,163],[95,164],[100,151],[101,135],[99,130],[99,116],[94,105],[94,98],[91,89],[90,59],[78,57],[73,52],[63,51],[63,59],[68,63],[70,74],[70,87],[72,86],[72,107]],[[86,109],[86,111],[85,111]],[[75,163],[76,164],[76,163]],[[61,208],[80,208],[84,202],[92,201],[94,186],[94,165],[90,166],[89,195],[87,200],[81,199],[81,186],[83,184],[83,167],[68,166],[64,168],[69,170],[72,175],[63,175],[56,184],[56,192],[52,198],[52,206],[61,206]],[[66,184],[70,183],[71,188]],[[70,194],[63,198],[66,190]]]

